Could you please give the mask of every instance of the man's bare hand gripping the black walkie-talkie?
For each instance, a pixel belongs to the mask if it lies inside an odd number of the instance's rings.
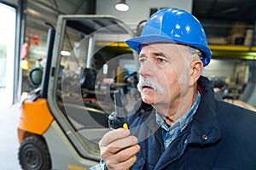
[[[130,130],[119,128],[106,133],[99,142],[102,159],[108,169],[128,169],[136,161],[140,150],[137,137]]]

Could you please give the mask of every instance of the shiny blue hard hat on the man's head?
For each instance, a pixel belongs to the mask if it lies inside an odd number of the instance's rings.
[[[140,37],[126,40],[130,48],[140,52],[142,44],[153,42],[173,42],[189,45],[201,51],[201,61],[208,65],[212,52],[207,45],[207,36],[199,20],[179,8],[163,8],[153,14]]]

